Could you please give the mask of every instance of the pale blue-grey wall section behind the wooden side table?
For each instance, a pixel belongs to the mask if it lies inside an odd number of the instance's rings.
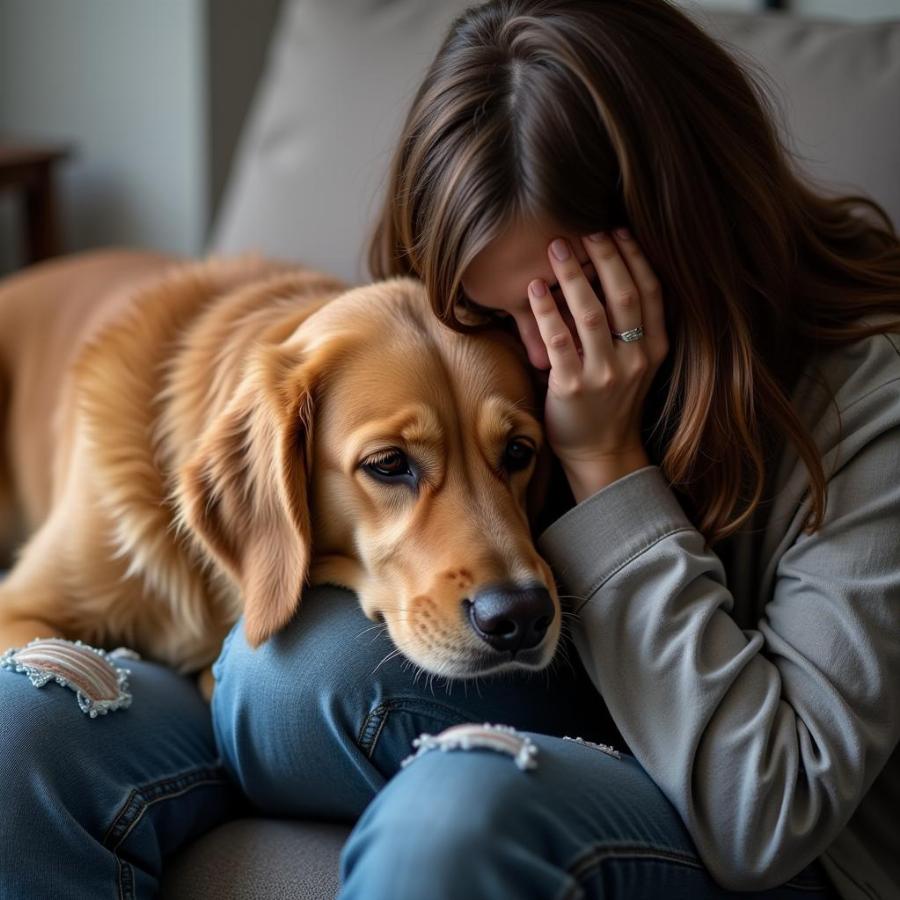
[[[65,246],[192,253],[206,229],[202,0],[0,0],[0,133],[72,142]],[[4,195],[0,267],[20,252]]]

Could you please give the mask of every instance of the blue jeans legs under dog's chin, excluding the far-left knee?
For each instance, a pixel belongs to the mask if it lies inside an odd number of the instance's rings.
[[[818,862],[767,891],[719,887],[566,649],[569,664],[544,672],[417,678],[354,594],[315,588],[258,650],[240,623],[229,634],[214,666],[217,746],[261,810],[355,822],[339,900],[837,896]],[[472,722],[512,726],[534,767],[428,748]],[[422,734],[437,738],[411,758]]]

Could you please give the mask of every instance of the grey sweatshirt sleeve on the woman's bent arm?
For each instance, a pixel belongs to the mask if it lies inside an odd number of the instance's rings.
[[[900,738],[898,451],[893,427],[832,475],[755,628],[658,466],[538,540],[578,598],[591,679],[725,887],[771,888],[821,855]]]

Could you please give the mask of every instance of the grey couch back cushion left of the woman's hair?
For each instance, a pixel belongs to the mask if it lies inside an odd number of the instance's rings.
[[[362,275],[364,231],[418,83],[471,2],[287,0],[210,249]]]

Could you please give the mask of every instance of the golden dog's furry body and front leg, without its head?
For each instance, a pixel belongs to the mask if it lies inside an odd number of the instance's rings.
[[[342,289],[256,254],[125,250],[0,284],[0,515],[5,544],[27,538],[0,583],[0,643],[128,642],[185,669],[214,657],[234,591],[173,533],[170,457],[192,445],[210,404],[227,402],[263,330],[295,327],[316,305],[298,310],[304,296]],[[160,437],[167,428],[174,440]]]

